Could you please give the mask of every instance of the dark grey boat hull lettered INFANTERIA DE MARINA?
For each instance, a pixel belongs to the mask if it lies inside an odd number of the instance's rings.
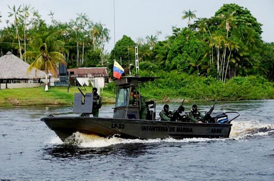
[[[128,120],[93,117],[44,117],[41,119],[62,141],[75,132],[125,139],[174,139],[229,137],[232,124]]]

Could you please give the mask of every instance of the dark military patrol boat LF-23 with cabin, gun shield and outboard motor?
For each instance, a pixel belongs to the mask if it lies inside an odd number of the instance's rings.
[[[113,118],[104,117],[43,117],[41,121],[53,130],[62,141],[72,139],[73,133],[77,131],[84,134],[97,135],[101,137],[120,137],[125,139],[156,139],[169,138],[182,139],[192,137],[227,138],[229,137],[233,119],[228,119],[227,113],[212,113],[214,106],[206,113],[204,123],[177,122],[157,120],[156,103],[146,102],[147,118],[140,120],[139,105],[130,104],[131,91],[139,90],[140,83],[154,81],[157,77],[121,77],[115,79],[116,104]],[[84,102],[83,102],[84,97]],[[92,113],[93,93],[75,93],[73,112]]]

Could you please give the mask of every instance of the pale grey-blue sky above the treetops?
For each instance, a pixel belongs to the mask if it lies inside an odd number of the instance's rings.
[[[0,0],[0,29],[6,26],[6,19],[12,21],[8,17],[8,5],[18,8],[19,5],[30,4],[38,9],[46,23],[51,23],[51,17],[48,16],[50,11],[54,12],[54,19],[61,22],[76,19],[76,13],[82,12],[93,22],[105,24],[104,27],[110,30],[111,40],[105,48],[111,51],[114,42],[123,35],[136,42],[138,37],[145,39],[161,31],[158,40],[165,40],[172,34],[172,26],[187,27],[188,20],[181,19],[184,10],[196,10],[197,18],[210,18],[223,4],[229,3],[247,8],[263,24],[262,40],[274,42],[274,0]]]

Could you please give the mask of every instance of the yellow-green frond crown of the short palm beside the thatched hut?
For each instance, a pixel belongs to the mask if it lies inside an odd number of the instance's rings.
[[[66,64],[65,57],[61,54],[63,42],[55,38],[55,33],[40,32],[35,34],[31,42],[31,46],[36,51],[27,51],[23,57],[35,59],[27,70],[27,73],[33,68],[45,70],[47,73],[52,73],[55,76],[55,69],[61,64]],[[39,45],[39,46],[38,46]],[[39,47],[38,49],[36,47]]]

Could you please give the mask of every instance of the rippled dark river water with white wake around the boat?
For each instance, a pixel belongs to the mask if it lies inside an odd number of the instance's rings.
[[[184,103],[186,110],[192,103]],[[198,103],[201,112],[213,102]],[[112,117],[114,105],[99,117]],[[157,115],[163,104],[158,104]],[[179,103],[170,103],[170,110]],[[0,180],[274,180],[274,100],[218,102],[241,114],[230,138],[130,140],[79,134],[63,144],[41,117],[72,107],[0,108]]]

